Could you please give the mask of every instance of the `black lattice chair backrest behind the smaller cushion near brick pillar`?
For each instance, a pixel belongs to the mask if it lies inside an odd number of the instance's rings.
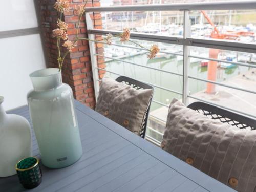
[[[133,87],[134,89],[153,89],[154,88],[152,86],[150,86],[149,84],[137,81],[135,79],[129,78],[129,77],[125,77],[125,76],[120,76],[116,79],[117,82],[121,82],[121,83],[125,83],[131,87]],[[145,138],[145,134],[146,134],[146,125],[147,125],[147,119],[148,119],[148,115],[150,113],[150,105],[151,105],[151,101],[152,101],[152,97],[150,99],[150,102],[148,103],[147,106],[147,110],[145,112],[144,115],[144,119],[143,119],[143,124],[142,124],[142,129],[140,131],[140,137]]]

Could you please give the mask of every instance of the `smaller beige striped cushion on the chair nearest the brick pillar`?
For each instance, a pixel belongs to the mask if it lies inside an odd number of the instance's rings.
[[[136,90],[105,77],[99,88],[95,111],[139,135],[152,89]]]

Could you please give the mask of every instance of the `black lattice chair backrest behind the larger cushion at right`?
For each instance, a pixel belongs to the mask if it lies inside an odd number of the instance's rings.
[[[239,129],[256,129],[256,120],[227,111],[222,108],[218,108],[217,106],[213,106],[204,102],[194,102],[187,106],[190,109],[196,110],[199,113],[210,117],[211,119],[219,120],[223,123],[228,123],[232,126],[236,126]]]

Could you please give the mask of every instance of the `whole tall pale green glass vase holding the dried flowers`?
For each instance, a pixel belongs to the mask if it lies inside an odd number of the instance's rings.
[[[72,89],[56,68],[35,71],[30,78],[34,90],[27,100],[41,161],[50,168],[69,166],[82,155]]]

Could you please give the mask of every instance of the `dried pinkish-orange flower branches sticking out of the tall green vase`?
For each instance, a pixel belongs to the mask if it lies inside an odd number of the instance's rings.
[[[150,53],[147,55],[148,58],[152,59],[156,56],[156,54],[159,52],[158,46],[153,45],[153,46],[151,46],[150,49],[147,49],[147,48],[143,47],[142,45],[138,44],[137,42],[130,40],[130,30],[128,28],[124,28],[122,33],[114,35],[114,36],[111,33],[106,34],[106,37],[102,38],[100,40],[78,37],[78,31],[79,31],[79,27],[80,27],[80,23],[81,23],[81,18],[83,16],[84,12],[86,11],[87,1],[84,4],[76,5],[74,8],[74,12],[76,15],[79,16],[79,19],[78,19],[78,25],[76,27],[76,38],[73,41],[68,40],[68,34],[67,34],[68,25],[67,25],[67,23],[65,23],[61,20],[63,12],[70,10],[69,1],[68,0],[57,0],[54,4],[54,8],[58,12],[60,12],[60,19],[57,20],[58,28],[54,29],[53,34],[52,34],[52,37],[57,39],[57,42],[56,42],[57,48],[58,48],[57,61],[58,61],[58,65],[59,65],[59,70],[62,69],[62,65],[63,65],[63,61],[65,60],[65,57],[67,56],[67,54],[69,52],[72,52],[72,49],[76,46],[76,42],[78,40],[90,40],[90,41],[94,41],[94,42],[106,41],[106,44],[112,45],[112,41],[111,41],[112,38],[118,37],[118,38],[120,38],[121,42],[130,41],[130,42],[133,42],[133,44],[138,45],[139,47],[144,48],[147,51],[149,51]],[[61,41],[64,41],[64,42],[61,42]],[[63,56],[61,56],[61,52],[60,52],[60,42],[62,43],[62,46],[67,49],[67,51],[63,54]]]

